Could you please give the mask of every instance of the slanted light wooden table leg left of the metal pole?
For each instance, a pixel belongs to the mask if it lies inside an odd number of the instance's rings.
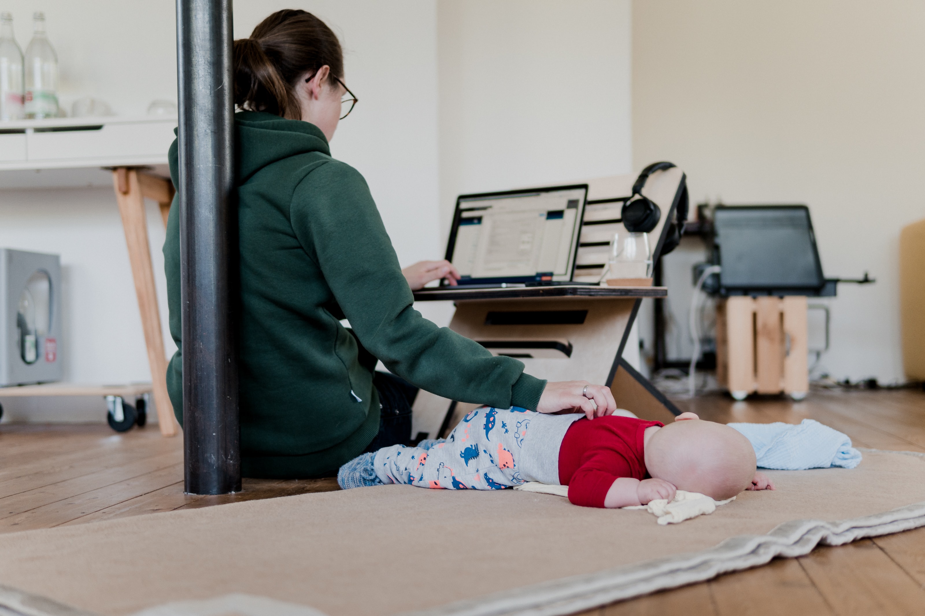
[[[122,215],[125,241],[129,247],[131,276],[135,282],[138,308],[142,313],[144,344],[147,346],[148,363],[151,365],[157,421],[161,434],[173,436],[177,433],[177,423],[173,415],[173,406],[167,395],[167,360],[164,352],[164,338],[161,333],[160,312],[157,309],[154,267],[151,263],[148,225],[144,214],[144,197],[138,171],[125,167],[117,168],[113,171],[113,184],[116,188],[119,213]]]

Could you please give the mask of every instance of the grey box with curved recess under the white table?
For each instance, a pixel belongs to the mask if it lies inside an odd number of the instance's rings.
[[[61,258],[0,248],[0,386],[61,380]]]

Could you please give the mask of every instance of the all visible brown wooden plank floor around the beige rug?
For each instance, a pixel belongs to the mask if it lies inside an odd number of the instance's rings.
[[[814,392],[801,403],[710,395],[677,404],[723,423],[808,417],[859,447],[925,452],[925,393],[916,391]],[[240,494],[188,496],[182,457],[182,441],[156,428],[117,435],[105,426],[0,425],[0,532],[337,489],[333,479],[245,479]],[[583,616],[647,614],[925,614],[925,528],[818,548]]]

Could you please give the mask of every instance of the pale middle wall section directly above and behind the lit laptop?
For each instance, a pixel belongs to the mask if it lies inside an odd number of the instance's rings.
[[[440,231],[456,196],[630,172],[630,4],[439,0]]]

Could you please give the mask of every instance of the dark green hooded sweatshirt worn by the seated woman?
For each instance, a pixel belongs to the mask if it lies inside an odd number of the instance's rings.
[[[414,310],[369,187],[331,158],[318,127],[241,112],[235,130],[245,477],[323,476],[362,453],[379,428],[375,358],[450,400],[536,409],[546,381]],[[169,163],[179,185],[176,141]],[[167,389],[182,423],[176,203],[164,261],[178,347]],[[344,318],[353,335],[340,324]]]

